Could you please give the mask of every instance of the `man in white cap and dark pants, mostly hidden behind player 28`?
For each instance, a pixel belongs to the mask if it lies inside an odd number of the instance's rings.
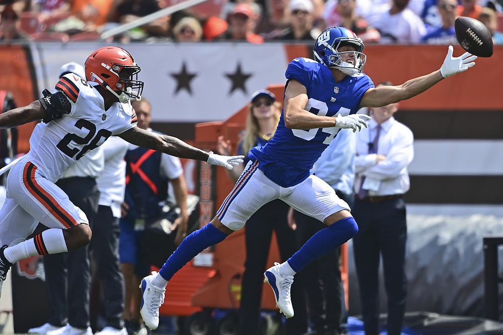
[[[66,73],[85,77],[84,68],[77,63],[64,64],[59,77]],[[34,132],[41,132],[45,128],[35,128]],[[56,182],[70,201],[86,213],[91,228],[98,213],[100,198],[96,178],[103,172],[103,165],[103,149],[99,147],[82,156]],[[68,253],[44,255],[43,259],[50,314],[45,324],[29,329],[28,333],[92,335],[89,245]]]

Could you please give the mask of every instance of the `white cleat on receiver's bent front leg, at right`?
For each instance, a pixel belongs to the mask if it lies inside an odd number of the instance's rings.
[[[293,317],[292,300],[290,299],[290,287],[293,283],[293,276],[285,276],[279,271],[281,264],[274,263],[264,272],[264,282],[269,283],[274,291],[276,307],[285,314],[287,318]]]

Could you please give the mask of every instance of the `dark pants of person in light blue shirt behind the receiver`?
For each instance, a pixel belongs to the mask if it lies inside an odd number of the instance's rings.
[[[338,196],[352,206],[352,195],[338,193]],[[294,216],[297,223],[295,235],[299,245],[327,227],[323,222],[300,212],[295,211]],[[341,323],[347,322],[340,257],[341,247],[337,247],[308,264],[296,275],[307,294],[311,328],[319,334],[326,330],[340,332]]]

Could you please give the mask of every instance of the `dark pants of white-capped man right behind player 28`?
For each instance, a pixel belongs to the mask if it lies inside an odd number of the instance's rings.
[[[60,179],[56,185],[75,206],[86,213],[89,224],[93,227],[100,198],[96,180],[74,177]],[[91,290],[89,246],[68,253],[45,255],[43,258],[47,300],[51,310],[47,322],[57,326],[68,322],[76,328],[87,328],[90,325]]]

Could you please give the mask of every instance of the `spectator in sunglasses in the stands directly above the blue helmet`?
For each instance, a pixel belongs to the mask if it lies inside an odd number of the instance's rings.
[[[358,3],[362,0],[358,0]],[[332,18],[334,26],[341,26],[351,29],[362,39],[363,42],[377,42],[381,38],[379,31],[371,27],[365,19],[357,14],[356,0],[338,0],[335,11],[336,16]]]

